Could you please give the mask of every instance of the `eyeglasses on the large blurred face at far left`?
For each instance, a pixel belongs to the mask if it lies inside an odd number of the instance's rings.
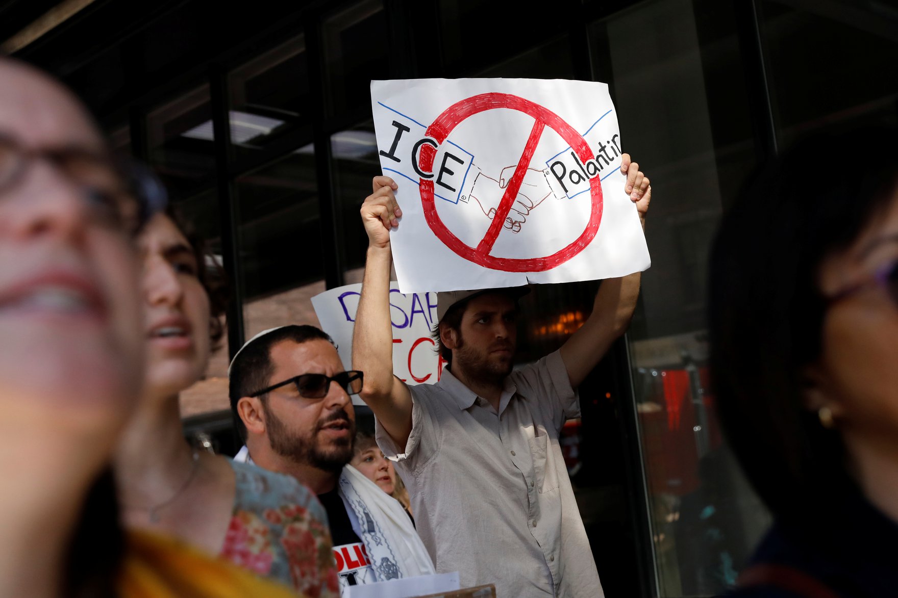
[[[131,236],[167,203],[163,184],[142,164],[117,161],[108,154],[80,147],[34,150],[3,133],[0,197],[22,182],[36,160],[51,163],[78,187],[96,222]]]

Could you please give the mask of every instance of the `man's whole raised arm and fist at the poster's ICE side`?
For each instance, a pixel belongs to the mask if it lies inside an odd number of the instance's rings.
[[[411,434],[411,393],[392,373],[392,323],[390,321],[390,230],[402,215],[390,177],[374,177],[374,192],[362,205],[362,222],[368,233],[368,253],[362,296],[352,336],[352,367],[365,373],[360,396],[374,411],[383,429],[397,446],[405,446]]]

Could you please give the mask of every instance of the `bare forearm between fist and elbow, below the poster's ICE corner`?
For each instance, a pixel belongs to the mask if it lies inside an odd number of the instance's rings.
[[[383,397],[392,390],[391,264],[389,246],[368,248],[352,338],[352,366],[365,373],[363,399]]]

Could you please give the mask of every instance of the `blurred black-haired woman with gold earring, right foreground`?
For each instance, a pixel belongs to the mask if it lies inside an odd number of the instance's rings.
[[[755,177],[714,242],[718,411],[775,518],[740,598],[898,587],[896,138],[807,137]],[[857,167],[835,149],[857,151]]]

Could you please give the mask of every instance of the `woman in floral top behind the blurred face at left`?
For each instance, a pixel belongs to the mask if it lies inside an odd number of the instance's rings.
[[[137,248],[147,374],[114,461],[125,523],[178,536],[301,594],[336,595],[327,515],[309,489],[184,439],[178,394],[205,374],[224,332],[225,289],[201,240],[170,210],[147,224]]]

